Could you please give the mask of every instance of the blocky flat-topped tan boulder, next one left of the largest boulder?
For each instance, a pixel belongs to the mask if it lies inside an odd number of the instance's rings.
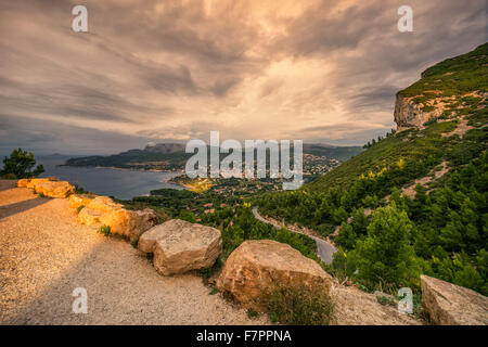
[[[164,274],[209,268],[222,253],[220,230],[171,219],[139,239],[143,253],[153,253],[156,270]]]

